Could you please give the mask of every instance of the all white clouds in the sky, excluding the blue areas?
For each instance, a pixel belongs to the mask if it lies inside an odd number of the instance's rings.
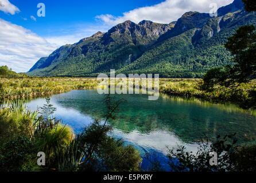
[[[22,26],[15,25],[0,18],[0,65],[7,65],[14,71],[28,71],[38,59],[47,57],[57,47],[67,43],[75,43],[82,38],[90,37],[97,31],[106,32],[111,26],[124,22],[128,19],[138,23],[143,19],[148,19],[159,23],[169,23],[177,20],[186,11],[210,11],[210,4],[215,2],[218,7],[228,5],[233,0],[166,0],[154,6],[141,7],[123,13],[121,17],[114,15],[99,15],[97,18],[104,24],[94,24],[90,26],[72,26],[70,30],[60,35],[42,38],[32,31]],[[11,5],[0,7],[5,13],[15,14],[18,8]],[[9,4],[8,4],[9,3]],[[3,9],[4,8],[4,9]],[[31,16],[30,18],[32,18]],[[35,17],[34,17],[35,18]],[[33,18],[32,18],[33,19]],[[66,29],[67,30],[67,29]]]

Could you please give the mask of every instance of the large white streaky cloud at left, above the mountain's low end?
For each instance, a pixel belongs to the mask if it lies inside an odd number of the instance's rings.
[[[58,47],[78,42],[97,31],[106,31],[107,26],[72,26],[65,35],[40,37],[22,26],[0,18],[0,66],[7,65],[17,72],[28,71],[38,59],[47,57]]]

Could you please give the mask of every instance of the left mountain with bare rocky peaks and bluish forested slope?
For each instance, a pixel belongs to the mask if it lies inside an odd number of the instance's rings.
[[[107,33],[98,32],[73,45],[61,46],[48,58],[41,58],[28,74],[55,75],[52,74],[55,70],[54,73],[61,75],[63,65],[67,67],[65,74],[74,73],[70,68],[75,69],[76,73],[97,73],[108,71],[111,67],[119,69],[123,64],[137,59],[173,26],[174,23],[141,21],[136,24],[125,21],[112,27]]]

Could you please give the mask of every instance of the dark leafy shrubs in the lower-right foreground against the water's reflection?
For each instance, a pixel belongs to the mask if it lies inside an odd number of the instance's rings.
[[[208,137],[197,142],[197,152],[189,152],[184,146],[168,148],[167,163],[173,172],[255,172],[256,145],[236,145],[235,134],[216,138]],[[216,153],[216,159],[212,153]],[[210,161],[212,164],[210,164]],[[150,170],[163,171],[157,158],[150,161]]]

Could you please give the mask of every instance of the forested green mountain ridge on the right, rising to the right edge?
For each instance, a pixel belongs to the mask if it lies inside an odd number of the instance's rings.
[[[208,69],[230,63],[232,56],[223,45],[238,27],[246,24],[256,25],[255,13],[241,9],[222,17],[212,17],[201,28],[158,42],[118,72],[202,77]]]

